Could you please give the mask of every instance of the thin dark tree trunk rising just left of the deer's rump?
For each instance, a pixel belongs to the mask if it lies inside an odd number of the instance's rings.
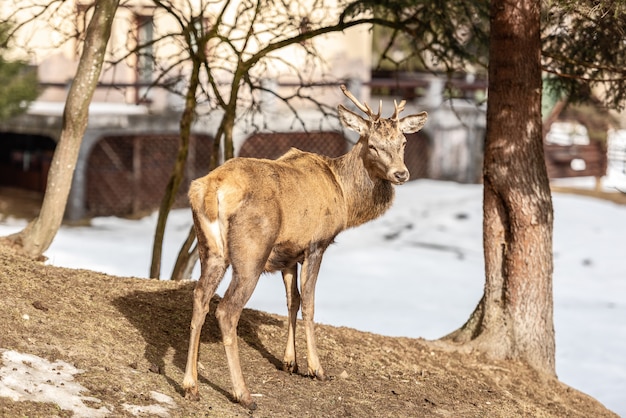
[[[180,146],[176,156],[176,162],[172,170],[169,182],[165,188],[165,194],[159,207],[159,217],[157,219],[154,242],[152,246],[152,261],[150,263],[150,277],[158,279],[161,276],[161,255],[163,253],[163,237],[165,236],[165,225],[170,210],[174,205],[176,194],[180,184],[185,177],[185,166],[187,155],[189,154],[189,139],[191,137],[191,125],[196,113],[196,91],[200,84],[200,60],[193,60],[193,68],[189,79],[189,88],[185,98],[185,109],[180,118]]]

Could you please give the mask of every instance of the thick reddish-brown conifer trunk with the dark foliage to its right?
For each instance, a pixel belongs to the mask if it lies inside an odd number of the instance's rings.
[[[625,8],[613,1],[492,1],[485,291],[469,320],[444,340],[555,374],[553,213],[542,146],[541,71],[549,88],[570,102],[600,98],[605,106],[623,108]]]

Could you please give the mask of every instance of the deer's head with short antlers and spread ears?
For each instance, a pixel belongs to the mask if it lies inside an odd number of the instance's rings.
[[[339,105],[339,118],[348,129],[360,135],[359,144],[362,144],[361,156],[370,176],[389,180],[393,184],[403,184],[409,179],[409,170],[404,164],[404,134],[417,132],[426,123],[428,114],[421,112],[400,119],[400,112],[404,110],[406,101],[400,104],[394,100],[395,110],[390,118],[381,118],[382,100],[378,106],[378,113],[362,104],[346,86],[341,90],[358,109],[367,115],[367,119]]]

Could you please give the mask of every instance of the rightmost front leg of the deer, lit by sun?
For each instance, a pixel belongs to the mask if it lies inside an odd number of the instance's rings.
[[[315,342],[315,283],[317,274],[322,263],[322,255],[326,247],[312,246],[313,248],[304,258],[302,274],[300,277],[302,293],[302,319],[304,320],[304,332],[306,336],[306,350],[309,376],[318,380],[326,380],[326,374],[317,355]]]

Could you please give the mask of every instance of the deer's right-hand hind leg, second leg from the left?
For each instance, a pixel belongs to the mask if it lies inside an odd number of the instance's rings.
[[[235,270],[234,264],[233,270]],[[224,298],[215,312],[222,331],[222,341],[226,350],[226,359],[228,360],[228,369],[230,370],[230,379],[233,385],[233,397],[237,402],[250,410],[256,409],[256,403],[252,400],[241,371],[237,324],[239,323],[243,307],[250,299],[250,296],[252,296],[261,271],[262,269],[258,269],[258,271],[245,275],[240,274],[236,270],[233,271],[232,282],[226,293],[224,293]]]

